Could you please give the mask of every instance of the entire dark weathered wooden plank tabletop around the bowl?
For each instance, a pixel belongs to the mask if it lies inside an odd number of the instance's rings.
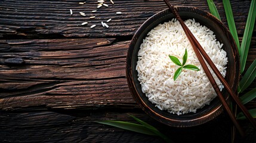
[[[172,128],[147,116],[129,92],[125,77],[129,42],[147,18],[166,9],[163,1],[114,0],[114,5],[107,1],[109,7],[97,13],[91,13],[96,0],[79,2],[0,1],[1,142],[162,142],[93,122],[134,122],[127,114],[156,126],[177,143],[231,142],[232,123],[226,113],[203,125]],[[214,2],[227,26],[222,1]],[[172,4],[209,11],[206,0]],[[241,40],[251,1],[231,4]],[[118,11],[122,14],[116,15]],[[92,15],[96,17],[89,19]],[[109,28],[102,27],[100,22],[109,18]],[[85,21],[88,25],[82,26]],[[91,29],[92,24],[97,26]],[[254,30],[248,65],[256,58],[255,43]],[[255,108],[255,101],[246,107]],[[246,138],[238,135],[236,142],[256,142],[256,131],[248,122],[240,123]]]

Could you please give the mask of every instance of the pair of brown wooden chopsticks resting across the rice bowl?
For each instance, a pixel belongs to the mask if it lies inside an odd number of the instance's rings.
[[[203,67],[203,70],[206,73],[206,76],[208,76],[208,79],[211,82],[212,87],[214,88],[215,92],[217,93],[218,97],[220,98],[220,101],[221,101],[222,105],[224,106],[225,110],[229,114],[230,119],[232,120],[232,122],[236,126],[236,128],[238,129],[238,132],[240,133],[240,135],[244,136],[245,133],[243,132],[243,129],[239,125],[238,120],[236,120],[234,114],[230,110],[229,104],[227,104],[225,98],[221,94],[221,91],[218,88],[218,85],[215,82],[214,77],[212,76],[208,67],[206,66],[206,63],[203,60],[203,58],[205,58],[206,62],[209,64],[211,69],[214,71],[214,73],[216,74],[218,79],[220,79],[221,83],[223,83],[224,87],[227,89],[227,91],[229,92],[229,94],[231,95],[233,100],[236,102],[236,104],[238,104],[238,106],[242,110],[243,114],[245,114],[245,116],[247,117],[249,122],[251,122],[252,126],[256,129],[256,122],[255,122],[254,118],[251,116],[251,114],[248,112],[248,110],[245,108],[245,106],[239,100],[239,98],[235,94],[235,92],[230,88],[229,84],[226,82],[226,80],[224,79],[224,77],[222,76],[220,71],[217,69],[215,64],[212,62],[211,58],[209,58],[209,56],[206,54],[206,52],[204,51],[204,49],[202,48],[200,43],[196,40],[195,36],[192,34],[192,32],[189,30],[189,28],[184,23],[184,21],[181,19],[180,15],[177,12],[177,9],[173,5],[169,4],[169,2],[167,0],[164,0],[164,1],[165,1],[165,4],[168,6],[169,10],[172,11],[172,13],[175,15],[177,20],[180,22],[181,27],[183,28],[184,32],[186,33],[186,36],[189,39],[189,42],[192,45],[192,47],[193,47],[193,49],[196,53],[196,56],[198,57],[198,60],[199,60],[199,62],[201,63],[201,65]],[[201,54],[203,55],[203,57],[202,57]]]

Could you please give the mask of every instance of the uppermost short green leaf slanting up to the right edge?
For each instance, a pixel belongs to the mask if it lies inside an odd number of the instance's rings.
[[[249,66],[248,70],[245,72],[245,75],[239,82],[240,91],[243,92],[249,85],[254,81],[256,77],[256,59],[252,62],[251,66]]]

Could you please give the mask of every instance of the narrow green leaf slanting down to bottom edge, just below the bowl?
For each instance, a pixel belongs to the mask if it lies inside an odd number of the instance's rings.
[[[130,114],[128,114],[129,116],[131,116],[134,120],[136,120],[138,123],[141,123],[141,125],[145,126],[147,129],[149,129],[150,131],[152,131],[153,133],[155,133],[156,135],[158,135],[159,137],[161,137],[162,139],[164,139],[164,141],[166,142],[173,142],[171,141],[171,139],[169,139],[167,136],[165,136],[164,134],[162,134],[161,132],[159,132],[158,129],[156,129],[155,127],[149,125],[148,123],[138,119],[137,117],[134,117]]]

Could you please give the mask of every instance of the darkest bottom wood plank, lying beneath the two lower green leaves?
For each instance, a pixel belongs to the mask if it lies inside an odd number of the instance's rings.
[[[175,142],[230,142],[228,117],[223,114],[217,119],[193,128],[171,128],[155,122],[142,111],[82,111],[65,114],[52,111],[26,113],[1,112],[0,139],[5,142],[162,142],[154,136],[130,132],[107,125],[94,123],[95,120],[122,120],[136,123],[127,114],[155,126]],[[218,125],[218,126],[216,126]],[[246,124],[245,124],[246,126]],[[248,126],[247,126],[248,127]],[[20,132],[23,130],[23,132]],[[247,130],[251,130],[248,127]],[[243,142],[255,141],[255,130]],[[202,138],[203,136],[203,138]]]

